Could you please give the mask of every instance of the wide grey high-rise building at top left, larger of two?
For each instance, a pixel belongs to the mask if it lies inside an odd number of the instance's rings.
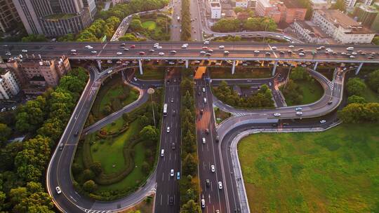
[[[76,34],[91,25],[95,0],[13,0],[28,34]]]

